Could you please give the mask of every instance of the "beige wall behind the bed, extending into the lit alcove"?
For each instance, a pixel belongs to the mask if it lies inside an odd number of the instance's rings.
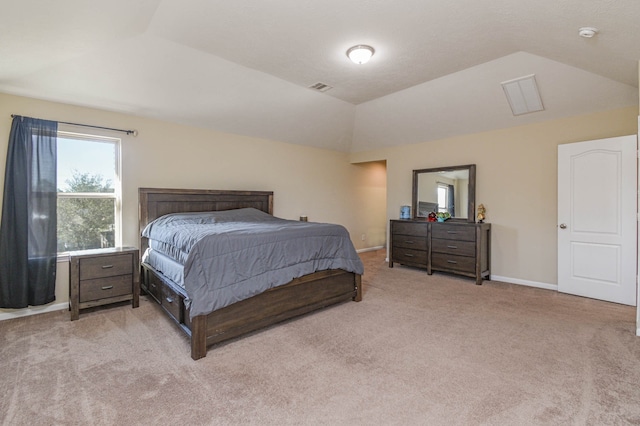
[[[11,114],[138,131],[137,137],[111,133],[122,138],[124,245],[139,245],[139,187],[272,190],[276,216],[297,220],[307,215],[310,221],[342,224],[356,249],[384,244],[385,194],[367,183],[379,181],[380,163],[355,166],[343,152],[1,93],[0,192]],[[78,127],[75,131],[91,132]],[[362,234],[367,235],[365,241]],[[67,265],[59,266],[54,302],[58,305],[68,300]],[[29,310],[33,309],[25,312]],[[0,310],[0,316],[3,312],[25,313]]]

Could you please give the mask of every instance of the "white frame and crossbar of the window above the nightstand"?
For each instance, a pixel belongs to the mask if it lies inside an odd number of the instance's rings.
[[[58,137],[67,139],[79,139],[101,143],[113,143],[115,145],[115,174],[113,189],[114,192],[58,192],[58,198],[102,198],[113,199],[115,212],[114,212],[114,245],[116,247],[122,246],[122,162],[121,162],[121,150],[122,139],[114,138],[110,136],[102,136],[96,134],[76,133],[68,132],[64,130],[58,130]],[[58,252],[59,257],[67,257],[69,252]]]

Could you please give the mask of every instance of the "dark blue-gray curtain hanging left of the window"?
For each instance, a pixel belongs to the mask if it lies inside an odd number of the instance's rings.
[[[0,225],[0,308],[55,300],[58,123],[14,116]]]

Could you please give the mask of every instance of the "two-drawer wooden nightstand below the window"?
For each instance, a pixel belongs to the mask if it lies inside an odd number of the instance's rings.
[[[140,305],[139,251],[115,247],[71,252],[69,257],[71,321],[80,309],[131,300]]]

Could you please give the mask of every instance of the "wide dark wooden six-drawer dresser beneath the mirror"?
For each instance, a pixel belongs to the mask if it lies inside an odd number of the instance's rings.
[[[491,279],[491,224],[392,220],[389,267],[394,262],[433,271]]]

